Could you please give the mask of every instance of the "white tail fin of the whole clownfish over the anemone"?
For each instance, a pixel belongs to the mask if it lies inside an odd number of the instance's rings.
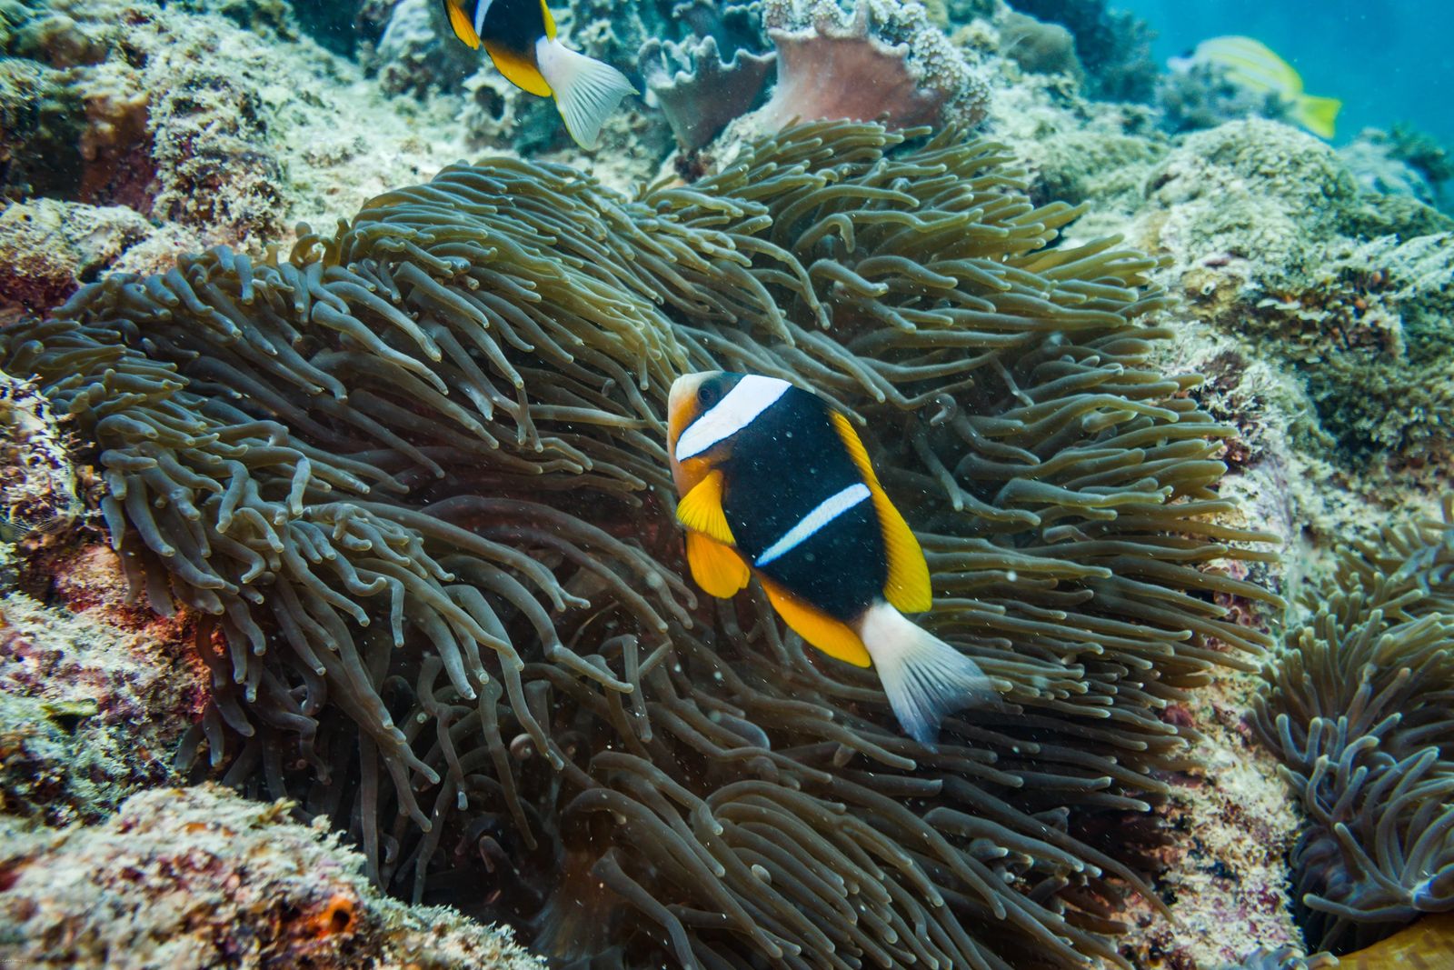
[[[980,665],[885,602],[864,614],[859,637],[904,731],[932,745],[939,720],[964,707],[997,707]]]

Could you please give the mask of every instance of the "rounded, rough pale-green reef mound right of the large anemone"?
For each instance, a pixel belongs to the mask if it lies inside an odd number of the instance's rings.
[[[1195,318],[1294,368],[1336,461],[1442,461],[1454,223],[1359,192],[1338,153],[1268,121],[1188,135],[1147,177],[1131,237]]]

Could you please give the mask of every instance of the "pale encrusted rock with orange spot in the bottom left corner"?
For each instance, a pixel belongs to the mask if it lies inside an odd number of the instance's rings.
[[[0,819],[0,961],[16,967],[535,970],[507,931],[409,907],[323,827],[220,787],[161,788],[103,825]]]

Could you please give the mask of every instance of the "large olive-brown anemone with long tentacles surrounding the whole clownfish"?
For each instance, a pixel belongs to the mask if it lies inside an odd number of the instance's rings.
[[[204,618],[183,759],[381,883],[577,966],[1125,966],[1162,711],[1266,646],[1214,595],[1274,598],[1213,566],[1262,537],[1146,365],[1152,260],[1056,244],[1077,211],[1006,163],[824,122],[635,199],[455,166],[286,259],[89,285],[3,361],[96,442],[135,589]],[[758,592],[694,593],[662,412],[705,368],[862,422],[1003,710],[922,747]]]

